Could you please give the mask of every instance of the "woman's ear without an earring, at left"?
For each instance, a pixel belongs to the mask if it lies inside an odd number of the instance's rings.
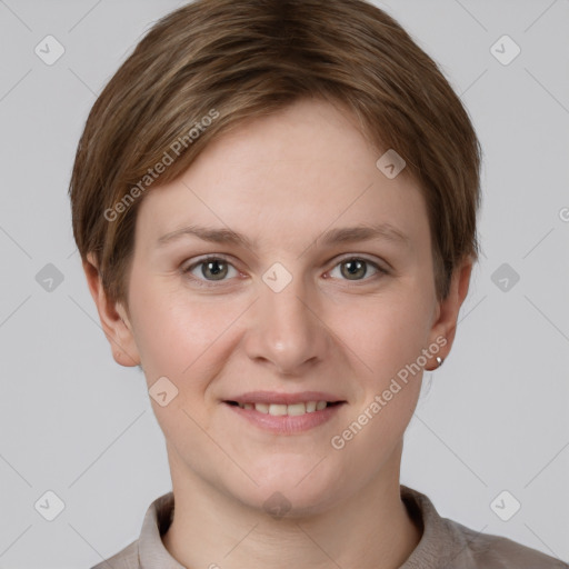
[[[92,252],[87,253],[83,271],[114,361],[124,367],[139,366],[140,356],[132,333],[132,326],[122,305],[108,300]]]

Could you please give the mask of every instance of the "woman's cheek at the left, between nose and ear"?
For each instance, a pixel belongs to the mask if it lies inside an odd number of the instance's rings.
[[[222,332],[232,311],[150,287],[140,287],[136,297],[136,341],[154,416],[176,447],[207,446],[207,440],[198,442],[213,410],[206,392],[222,365],[220,350],[227,343]],[[164,390],[169,400],[162,406],[153,393]]]

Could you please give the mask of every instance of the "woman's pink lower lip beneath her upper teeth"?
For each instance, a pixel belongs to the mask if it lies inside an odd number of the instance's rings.
[[[237,405],[223,403],[231,411],[239,417],[250,421],[254,426],[269,432],[278,435],[293,435],[296,432],[303,432],[323,425],[329,421],[345,403],[338,403],[332,407],[326,407],[320,411],[312,411],[311,413],[289,416],[289,415],[269,415],[261,413],[254,409],[241,409]]]

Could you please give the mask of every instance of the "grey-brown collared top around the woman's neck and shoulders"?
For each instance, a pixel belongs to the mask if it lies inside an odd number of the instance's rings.
[[[422,522],[423,532],[400,569],[569,569],[568,563],[516,541],[441,518],[427,496],[402,485],[401,499],[419,527]],[[160,538],[172,511],[172,492],[157,498],[148,508],[139,539],[91,569],[187,569]]]

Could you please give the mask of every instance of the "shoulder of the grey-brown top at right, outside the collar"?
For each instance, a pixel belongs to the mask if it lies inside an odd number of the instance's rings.
[[[458,521],[446,519],[453,531],[461,535],[471,557],[472,566],[480,569],[569,569],[569,565],[492,533],[480,533]]]

